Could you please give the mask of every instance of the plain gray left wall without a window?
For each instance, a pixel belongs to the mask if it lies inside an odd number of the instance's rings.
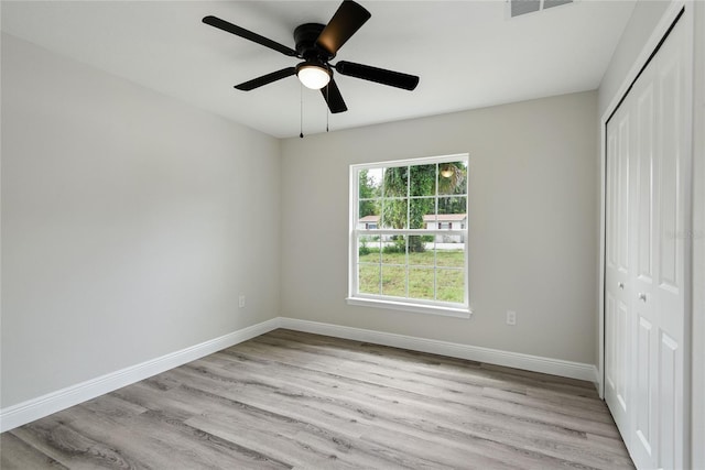
[[[1,406],[276,317],[279,173],[275,139],[3,35]]]

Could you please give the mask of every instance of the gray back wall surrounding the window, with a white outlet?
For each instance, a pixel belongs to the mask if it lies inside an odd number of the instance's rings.
[[[594,364],[596,124],[593,91],[284,140],[282,315]],[[348,306],[349,165],[460,152],[473,318]]]

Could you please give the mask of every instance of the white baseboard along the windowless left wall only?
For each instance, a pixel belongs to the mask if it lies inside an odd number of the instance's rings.
[[[258,337],[279,327],[279,318],[263,321],[231,334],[172,352],[151,361],[110,372],[36,398],[0,409],[0,433],[48,416],[70,406],[130,385],[152,375]]]

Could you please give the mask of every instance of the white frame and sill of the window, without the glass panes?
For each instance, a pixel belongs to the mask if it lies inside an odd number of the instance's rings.
[[[409,165],[429,165],[429,164],[443,164],[448,162],[459,162],[464,161],[466,166],[468,167],[467,174],[467,192],[466,194],[466,211],[468,222],[464,223],[460,229],[359,229],[358,228],[358,212],[359,212],[359,181],[358,175],[361,170],[373,170],[373,168],[389,168],[389,167],[399,167],[399,166],[409,166]],[[398,309],[404,311],[412,313],[421,313],[421,314],[433,314],[433,315],[443,315],[449,317],[457,318],[469,318],[473,314],[473,310],[469,306],[469,155],[467,153],[453,154],[453,155],[442,155],[442,156],[430,156],[422,159],[409,159],[409,160],[395,160],[388,162],[375,162],[375,163],[362,163],[350,165],[350,182],[349,182],[349,242],[348,242],[348,297],[347,303],[349,305],[358,305],[358,306],[367,306],[367,307],[379,307],[379,308],[390,308]],[[437,190],[437,189],[436,189]],[[438,195],[436,194],[436,197]],[[409,195],[408,195],[409,198]],[[437,227],[437,226],[436,226]],[[436,237],[437,234],[442,236],[460,236],[464,241],[464,252],[465,252],[465,261],[464,261],[464,278],[465,278],[465,298],[463,303],[448,303],[441,300],[425,300],[425,299],[413,299],[413,298],[401,298],[401,297],[392,297],[386,295],[377,295],[377,294],[367,294],[358,292],[358,256],[359,256],[359,248],[358,248],[358,236],[369,233],[373,236],[393,236],[393,234],[405,234],[405,236],[422,236],[422,234],[433,234]],[[406,264],[409,267],[409,264]]]

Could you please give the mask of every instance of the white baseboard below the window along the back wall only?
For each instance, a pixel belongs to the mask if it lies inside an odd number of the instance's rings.
[[[595,384],[598,383],[597,368],[594,364],[586,364],[582,362],[563,361],[560,359],[542,358],[539,356],[501,351],[498,349],[480,348],[477,346],[459,345],[456,342],[438,341],[435,339],[417,338],[339,325],[299,320],[295,318],[280,317],[280,327],[296,331],[313,332],[317,335],[333,336],[336,338],[352,339],[356,341],[367,341],[376,345],[430,352],[451,358],[467,359],[470,361],[486,362],[489,364],[505,365],[571,379],[579,379]]]

